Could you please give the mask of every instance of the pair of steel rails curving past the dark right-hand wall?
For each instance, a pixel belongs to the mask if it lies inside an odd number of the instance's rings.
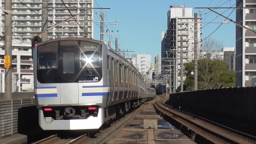
[[[254,143],[254,139],[244,138],[238,133],[230,133],[227,128],[223,127],[216,127],[215,124],[209,124],[209,121],[205,121],[203,119],[197,119],[193,115],[187,115],[181,112],[177,112],[172,110],[171,107],[166,107],[160,101],[157,101],[154,106],[164,115],[167,115],[169,118],[175,119],[180,124],[183,124],[185,127],[193,130],[195,133],[203,136],[204,138],[208,139],[211,142],[218,142],[218,143]],[[201,123],[201,125],[200,125]]]

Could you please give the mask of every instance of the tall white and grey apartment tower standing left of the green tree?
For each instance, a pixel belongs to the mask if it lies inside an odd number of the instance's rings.
[[[194,32],[197,31],[197,55],[200,58],[201,49],[201,18],[197,17],[197,29],[195,28],[194,14],[192,8],[187,8],[184,5],[170,6],[167,12],[167,31],[168,39],[168,58],[171,65],[172,87],[177,89],[181,83],[181,57],[183,63],[191,62],[194,59]],[[181,49],[181,37],[183,38],[183,49]],[[181,55],[181,50],[183,55]],[[167,56],[166,56],[167,57]],[[162,58],[166,58],[162,55]],[[185,76],[183,75],[183,80]]]

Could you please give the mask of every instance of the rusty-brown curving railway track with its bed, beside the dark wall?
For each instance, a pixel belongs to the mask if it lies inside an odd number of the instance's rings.
[[[212,143],[256,143],[256,137],[233,130],[213,121],[197,117],[164,104],[163,100],[154,103],[154,107],[167,118],[172,118],[191,131],[191,137],[196,141],[196,136],[203,136]]]

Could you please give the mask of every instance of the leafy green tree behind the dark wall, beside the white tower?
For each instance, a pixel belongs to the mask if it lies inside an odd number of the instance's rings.
[[[184,64],[187,72],[184,81],[184,89],[191,91],[194,89],[194,61]],[[228,71],[226,62],[215,59],[208,60],[206,58],[198,60],[198,89],[212,89],[221,87],[235,86],[235,73]]]

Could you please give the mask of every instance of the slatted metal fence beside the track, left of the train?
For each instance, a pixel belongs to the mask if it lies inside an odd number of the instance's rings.
[[[23,127],[31,126],[24,124],[24,121],[33,121],[31,118],[35,118],[35,106],[34,98],[0,101],[0,136],[12,135],[24,130]]]

